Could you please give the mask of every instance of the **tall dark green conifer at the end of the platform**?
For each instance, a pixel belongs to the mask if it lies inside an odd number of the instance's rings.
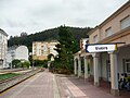
[[[73,53],[78,51],[78,42],[66,26],[58,28],[58,41],[60,44],[55,46],[55,50],[58,52],[58,60],[55,60],[57,62],[55,66],[73,71]]]

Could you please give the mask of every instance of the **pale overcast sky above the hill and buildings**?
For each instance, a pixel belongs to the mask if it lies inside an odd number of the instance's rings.
[[[9,36],[61,25],[94,27],[128,0],[0,0],[0,28]]]

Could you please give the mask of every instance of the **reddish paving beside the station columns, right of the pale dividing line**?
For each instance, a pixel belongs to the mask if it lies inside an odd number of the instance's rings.
[[[95,87],[91,83],[75,76],[66,77],[57,75],[56,78],[64,86],[65,90],[68,89],[69,98],[130,98],[129,93],[127,96],[114,97],[101,87]],[[61,93],[62,98],[67,98],[64,94]]]

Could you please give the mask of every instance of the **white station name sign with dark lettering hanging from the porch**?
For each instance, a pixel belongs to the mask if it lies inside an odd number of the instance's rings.
[[[86,45],[87,52],[104,52],[117,50],[116,45]]]

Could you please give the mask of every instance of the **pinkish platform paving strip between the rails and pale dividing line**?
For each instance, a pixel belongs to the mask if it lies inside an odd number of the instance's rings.
[[[60,98],[60,95],[54,75],[44,71],[1,94],[0,98]]]

